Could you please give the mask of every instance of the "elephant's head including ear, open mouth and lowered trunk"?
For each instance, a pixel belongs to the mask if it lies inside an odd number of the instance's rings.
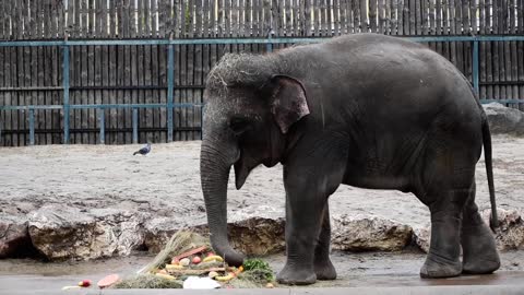
[[[289,130],[309,114],[303,85],[281,67],[275,55],[226,55],[206,81],[201,184],[212,246],[233,266],[243,256],[227,238],[230,167],[240,189],[255,166],[276,165]]]

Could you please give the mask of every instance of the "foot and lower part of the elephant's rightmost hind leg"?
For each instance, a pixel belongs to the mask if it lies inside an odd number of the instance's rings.
[[[462,271],[464,273],[487,274],[500,268],[497,245],[486,225],[463,228],[461,241],[463,249]]]

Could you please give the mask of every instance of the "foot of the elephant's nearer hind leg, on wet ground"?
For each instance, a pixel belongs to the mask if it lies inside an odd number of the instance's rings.
[[[420,276],[424,279],[439,279],[458,276],[462,273],[462,263],[446,259],[442,256],[428,253],[426,262],[420,269]]]

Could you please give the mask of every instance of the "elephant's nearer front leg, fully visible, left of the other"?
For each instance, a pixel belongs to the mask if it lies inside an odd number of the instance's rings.
[[[278,283],[289,285],[307,285],[317,281],[315,249],[320,245],[322,213],[326,202],[325,197],[319,193],[315,181],[308,182],[299,178],[284,178],[287,261],[276,279]],[[319,253],[324,255],[323,250]],[[319,259],[322,260],[321,257]]]

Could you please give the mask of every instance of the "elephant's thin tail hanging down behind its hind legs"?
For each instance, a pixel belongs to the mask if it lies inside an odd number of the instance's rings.
[[[499,227],[499,217],[497,216],[497,204],[495,201],[495,185],[493,185],[493,161],[491,158],[491,132],[489,131],[488,119],[486,115],[483,116],[483,143],[484,143],[484,160],[486,162],[486,174],[488,175],[489,201],[491,203],[491,216],[489,219],[489,227],[496,231]]]

